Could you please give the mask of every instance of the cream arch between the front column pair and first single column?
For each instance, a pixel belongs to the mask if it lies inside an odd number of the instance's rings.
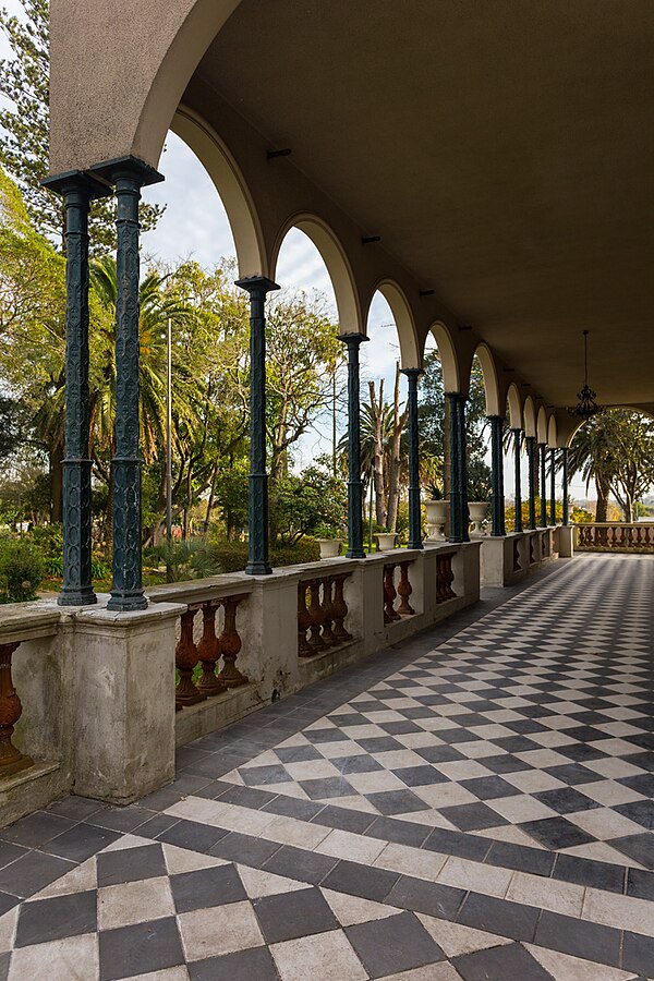
[[[218,134],[193,110],[180,106],[170,129],[201,160],[225,205],[234,239],[239,275],[267,276],[268,263],[261,222],[252,195]]]

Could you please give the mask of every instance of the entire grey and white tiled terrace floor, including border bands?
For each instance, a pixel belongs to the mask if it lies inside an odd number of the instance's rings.
[[[586,555],[0,831],[0,981],[654,978],[654,557]]]

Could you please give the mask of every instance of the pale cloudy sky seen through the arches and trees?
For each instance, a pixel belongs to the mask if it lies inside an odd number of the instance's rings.
[[[5,0],[10,13],[20,15],[20,0]],[[0,34],[0,57],[11,55],[5,38]],[[143,235],[143,258],[173,264],[193,257],[203,266],[211,267],[222,256],[234,255],[234,245],[222,202],[204,167],[193,152],[175,134],[169,133],[166,148],[159,161],[159,170],[166,180],[161,184],[144,189],[146,201],[166,205],[166,213],[154,231]],[[311,240],[298,229],[291,229],[283,241],[277,268],[280,286],[290,290],[317,290],[327,299],[328,307],[336,318],[336,303],[329,274]],[[362,397],[365,398],[366,383],[378,383],[385,378],[385,389],[390,396],[395,379],[396,362],[399,359],[398,336],[388,303],[377,293],[368,314],[367,334],[371,342],[361,348]],[[427,349],[435,343],[429,339]],[[407,379],[401,378],[401,395],[405,397]],[[347,420],[340,412],[338,427],[344,432]],[[331,447],[330,422],[318,420],[313,431],[307,433],[294,449],[294,467],[302,470],[320,452]],[[489,452],[487,462],[491,463]],[[526,460],[523,460],[523,496],[526,487]],[[513,459],[508,453],[505,459],[505,493],[513,494]],[[585,487],[580,481],[572,481],[571,493],[584,498]]]

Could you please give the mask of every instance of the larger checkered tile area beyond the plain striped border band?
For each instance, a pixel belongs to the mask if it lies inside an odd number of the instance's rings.
[[[578,560],[223,779],[654,869],[654,562]]]

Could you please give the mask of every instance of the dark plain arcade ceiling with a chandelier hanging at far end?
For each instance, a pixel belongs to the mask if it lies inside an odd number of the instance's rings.
[[[549,402],[589,328],[645,405],[653,34],[651,0],[241,0],[197,74]]]

